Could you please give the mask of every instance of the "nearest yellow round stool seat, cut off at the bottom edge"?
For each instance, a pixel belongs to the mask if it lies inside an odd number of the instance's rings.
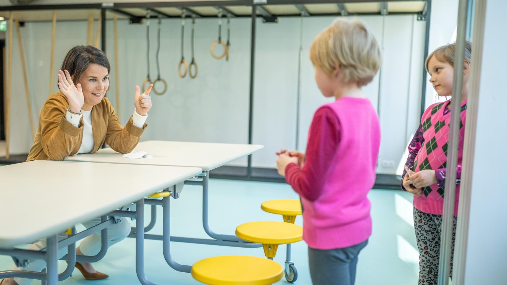
[[[279,281],[283,268],[277,262],[256,256],[216,256],[192,266],[192,277],[211,285],[267,285]]]

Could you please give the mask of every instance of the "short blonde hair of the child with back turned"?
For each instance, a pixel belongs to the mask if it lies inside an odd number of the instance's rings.
[[[338,18],[313,40],[310,60],[330,76],[339,67],[342,80],[361,87],[377,74],[382,55],[365,23]]]

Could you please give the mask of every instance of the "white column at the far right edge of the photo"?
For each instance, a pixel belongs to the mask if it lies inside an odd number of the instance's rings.
[[[475,10],[453,283],[504,284],[507,2],[477,1]]]

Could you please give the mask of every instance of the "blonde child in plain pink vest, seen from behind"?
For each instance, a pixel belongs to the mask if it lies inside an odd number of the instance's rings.
[[[377,73],[381,54],[364,23],[340,18],[317,35],[310,59],[322,95],[336,100],[315,112],[306,155],[282,150],[277,169],[301,197],[313,284],[349,285],[372,233],[366,195],[375,182],[380,126],[361,87]]]

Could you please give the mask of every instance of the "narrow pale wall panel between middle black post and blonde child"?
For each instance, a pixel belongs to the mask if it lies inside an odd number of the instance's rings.
[[[275,152],[296,147],[300,19],[257,20],[252,165],[275,167]]]

